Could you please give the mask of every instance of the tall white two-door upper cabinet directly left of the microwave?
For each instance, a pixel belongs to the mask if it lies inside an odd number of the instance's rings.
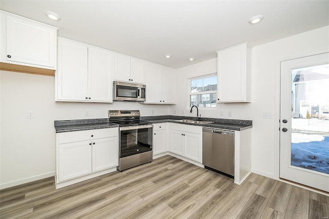
[[[58,38],[56,101],[112,102],[113,53]]]

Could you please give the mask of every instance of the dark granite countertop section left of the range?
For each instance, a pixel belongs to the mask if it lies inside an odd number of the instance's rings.
[[[81,119],[54,121],[56,133],[75,132],[93,129],[107,129],[119,127],[118,124],[108,122],[108,119]]]

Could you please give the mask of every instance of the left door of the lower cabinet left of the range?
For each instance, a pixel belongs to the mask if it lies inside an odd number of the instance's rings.
[[[78,141],[59,145],[59,180],[83,176],[92,172],[91,141]]]

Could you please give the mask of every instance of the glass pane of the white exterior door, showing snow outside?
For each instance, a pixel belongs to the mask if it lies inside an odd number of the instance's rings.
[[[291,166],[329,174],[329,64],[291,76]]]

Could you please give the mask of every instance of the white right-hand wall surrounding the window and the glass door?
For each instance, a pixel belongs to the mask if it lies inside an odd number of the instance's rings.
[[[280,61],[329,50],[329,26],[256,46],[252,50],[252,102],[220,103],[216,109],[200,109],[202,117],[252,120],[252,171],[279,178]],[[170,112],[195,116],[188,107],[188,78],[217,71],[216,59],[177,69],[177,104]],[[224,116],[220,116],[220,111]],[[232,112],[232,117],[227,112]],[[272,119],[264,119],[269,112]]]

